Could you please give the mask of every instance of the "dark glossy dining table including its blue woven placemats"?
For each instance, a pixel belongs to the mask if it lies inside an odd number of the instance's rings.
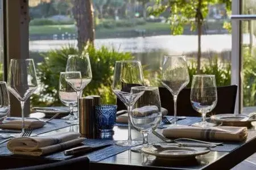
[[[184,120],[178,121],[178,124],[192,124],[200,120],[200,117],[186,117]],[[224,142],[222,146],[210,148],[211,151],[207,154],[196,156],[195,159],[176,161],[157,159],[152,155],[133,152],[130,147],[115,145],[115,141],[126,140],[128,134],[128,128],[125,124],[116,124],[113,128],[113,135],[99,134],[97,139],[85,139],[84,142],[86,145],[92,146],[100,143],[110,143],[113,144],[111,147],[80,156],[87,156],[90,159],[90,169],[230,169],[253,155],[256,151],[256,122],[251,124],[253,126],[248,129],[246,141],[222,141]],[[162,124],[161,126],[162,128],[156,130],[161,132],[168,125]],[[33,134],[43,136],[78,130],[78,125],[65,124],[65,120],[56,119],[49,122],[44,128],[35,129]],[[131,129],[131,137],[134,140],[142,140],[142,134],[134,128]],[[163,143],[154,134],[148,136],[148,142]],[[0,145],[0,169],[27,167],[29,165],[59,162],[72,158],[73,156],[65,156],[63,151],[46,156],[14,155],[7,150],[6,143]]]

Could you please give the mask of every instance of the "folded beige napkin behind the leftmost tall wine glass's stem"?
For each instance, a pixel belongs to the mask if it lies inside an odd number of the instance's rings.
[[[31,127],[31,128],[42,128],[44,125],[46,125],[46,122],[36,120],[36,119],[28,119],[25,118],[25,128]],[[2,129],[22,129],[22,118],[20,117],[7,117],[5,120],[3,120],[0,123],[0,128]]]

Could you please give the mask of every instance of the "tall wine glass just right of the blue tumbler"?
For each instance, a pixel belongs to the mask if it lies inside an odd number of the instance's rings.
[[[119,100],[126,105],[128,115],[135,103],[136,97],[131,97],[131,87],[143,86],[144,78],[141,61],[116,61],[112,90]],[[119,146],[135,146],[141,144],[139,141],[131,140],[131,124],[128,120],[128,140],[117,141]]]

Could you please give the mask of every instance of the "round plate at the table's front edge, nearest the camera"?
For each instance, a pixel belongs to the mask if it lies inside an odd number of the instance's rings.
[[[193,159],[197,155],[204,155],[210,152],[208,147],[179,147],[171,146],[168,143],[161,143],[161,146],[147,145],[142,147],[142,152],[154,155],[157,159],[180,160]]]

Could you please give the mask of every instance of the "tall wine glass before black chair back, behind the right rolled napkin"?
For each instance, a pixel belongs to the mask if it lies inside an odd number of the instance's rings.
[[[164,56],[162,84],[174,97],[174,126],[177,125],[177,96],[189,83],[188,66],[185,56]]]

